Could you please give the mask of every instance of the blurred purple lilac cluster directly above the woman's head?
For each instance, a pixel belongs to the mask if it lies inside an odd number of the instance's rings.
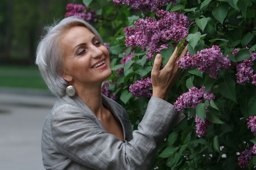
[[[67,4],[66,10],[67,13],[65,13],[65,17],[77,16],[90,23],[97,21],[97,18],[94,17],[96,15],[96,11],[90,10],[83,4]]]

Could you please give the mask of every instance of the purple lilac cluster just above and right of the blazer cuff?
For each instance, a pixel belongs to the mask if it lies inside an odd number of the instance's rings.
[[[204,89],[204,86],[202,86],[200,89],[196,87],[191,87],[188,92],[180,95],[180,97],[177,98],[176,102],[174,102],[173,105],[175,106],[175,109],[178,111],[185,108],[195,109],[196,106],[202,103],[204,99],[211,100],[215,98],[213,93],[204,93]]]

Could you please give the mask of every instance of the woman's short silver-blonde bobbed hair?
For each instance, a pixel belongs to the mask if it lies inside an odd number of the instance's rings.
[[[52,26],[45,26],[45,35],[42,35],[36,50],[36,64],[48,86],[49,90],[61,98],[65,95],[65,89],[69,85],[61,73],[63,73],[63,50],[61,48],[61,38],[65,31],[74,26],[85,26],[97,36],[101,44],[101,35],[85,20],[74,16],[64,18],[60,22],[54,22]]]

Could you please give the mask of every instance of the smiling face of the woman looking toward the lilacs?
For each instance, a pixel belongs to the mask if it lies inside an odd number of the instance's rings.
[[[75,26],[62,38],[64,73],[62,77],[76,88],[99,86],[111,75],[108,49],[87,28]]]

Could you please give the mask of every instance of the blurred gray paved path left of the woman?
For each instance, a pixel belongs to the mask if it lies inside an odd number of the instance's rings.
[[[0,170],[45,170],[41,130],[56,99],[37,91],[0,90]]]

